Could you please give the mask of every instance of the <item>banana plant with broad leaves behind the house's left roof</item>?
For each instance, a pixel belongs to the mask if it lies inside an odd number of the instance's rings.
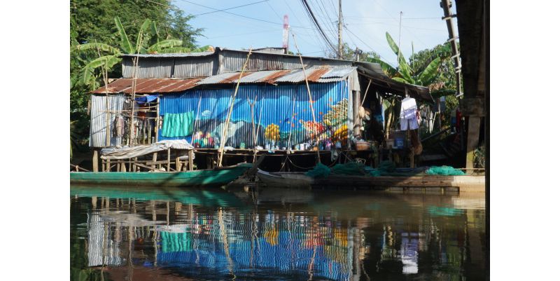
[[[204,46],[197,48],[195,50],[182,47],[183,41],[178,39],[165,39],[160,41],[158,34],[158,27],[155,22],[150,19],[146,19],[141,25],[138,32],[136,44],[133,45],[129,39],[129,36],[125,32],[123,24],[120,22],[118,17],[115,17],[115,25],[120,36],[119,46],[111,46],[106,43],[85,43],[77,46],[71,47],[71,52],[84,52],[93,51],[97,55],[94,58],[85,63],[85,66],[80,69],[79,77],[76,77],[73,83],[83,83],[84,85],[94,85],[97,80],[96,71],[100,69],[101,71],[107,71],[112,69],[116,64],[118,64],[122,59],[120,58],[123,54],[146,54],[146,53],[190,53],[190,52],[200,52],[209,49],[209,46]],[[157,39],[156,43],[151,46],[148,45],[148,41],[155,36]],[[102,55],[102,53],[104,55]]]

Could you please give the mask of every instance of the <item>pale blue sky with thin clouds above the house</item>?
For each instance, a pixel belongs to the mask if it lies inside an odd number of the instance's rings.
[[[338,1],[307,2],[330,41],[337,46]],[[295,34],[303,55],[324,56],[328,48],[314,29],[300,0],[173,0],[172,4],[187,14],[196,15],[190,24],[204,28],[204,36],[196,39],[200,46],[231,49],[281,47],[283,15],[288,15],[290,31]],[[236,6],[242,7],[233,8]],[[231,9],[219,12],[212,8]],[[451,13],[455,11],[453,5]],[[389,32],[399,43],[400,12],[400,47],[405,57],[412,55],[413,43],[414,51],[418,52],[433,48],[449,38],[447,25],[441,20],[443,10],[439,0],[342,0],[342,41],[365,52],[374,50],[382,60],[395,66],[397,57],[388,46],[385,32]],[[456,19],[453,22],[457,32]],[[291,35],[289,49],[296,52]]]

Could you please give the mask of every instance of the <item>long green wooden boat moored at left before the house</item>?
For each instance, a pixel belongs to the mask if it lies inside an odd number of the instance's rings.
[[[250,163],[187,172],[71,172],[71,184],[130,186],[222,186],[253,167]]]

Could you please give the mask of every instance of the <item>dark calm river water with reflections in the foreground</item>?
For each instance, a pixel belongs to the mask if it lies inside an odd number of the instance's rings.
[[[486,280],[483,193],[71,186],[71,280]]]

